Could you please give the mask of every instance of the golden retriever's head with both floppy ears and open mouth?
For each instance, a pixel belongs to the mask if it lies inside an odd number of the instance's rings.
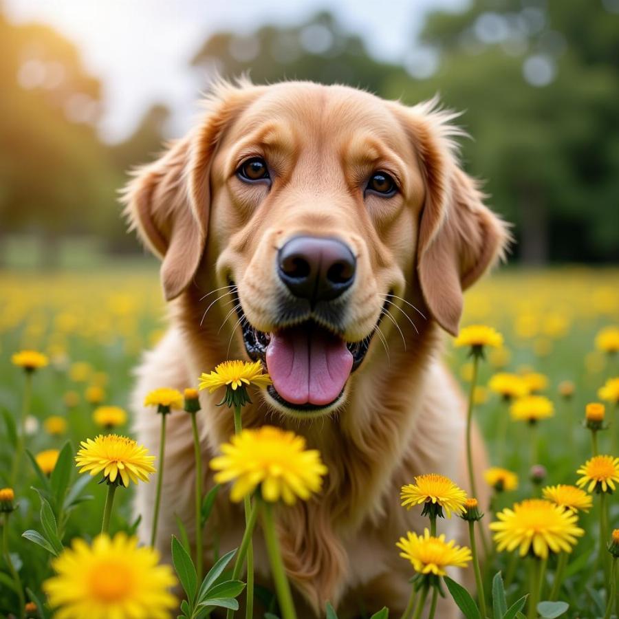
[[[198,286],[233,301],[276,408],[336,409],[392,305],[457,332],[506,231],[459,168],[451,120],[341,86],[221,83],[199,127],[129,184],[166,298]]]

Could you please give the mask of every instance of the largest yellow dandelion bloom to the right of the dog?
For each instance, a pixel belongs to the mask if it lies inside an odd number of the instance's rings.
[[[552,552],[572,552],[578,537],[585,532],[576,526],[578,517],[571,510],[545,501],[527,499],[506,508],[497,514],[499,519],[490,523],[495,532],[497,550],[519,549],[520,556],[532,552],[540,558],[547,558]]]

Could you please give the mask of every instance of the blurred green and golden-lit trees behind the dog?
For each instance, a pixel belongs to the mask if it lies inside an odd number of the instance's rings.
[[[411,104],[439,92],[464,110],[459,122],[473,136],[464,165],[514,222],[517,258],[619,260],[618,0],[476,0],[432,12],[401,63],[373,58],[360,34],[320,12],[209,36],[191,66],[196,91],[215,74],[246,72],[256,83],[346,83]],[[104,144],[102,85],[76,47],[1,13],[0,79],[1,230],[36,232],[50,246],[91,233],[111,252],[137,249],[116,190],[160,151],[173,110],[155,102],[129,138]]]

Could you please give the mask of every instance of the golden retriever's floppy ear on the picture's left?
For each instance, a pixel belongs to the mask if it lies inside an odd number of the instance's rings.
[[[199,127],[135,171],[122,192],[129,228],[162,259],[166,301],[193,280],[206,246],[213,155],[228,122],[257,90],[245,80],[217,83]]]

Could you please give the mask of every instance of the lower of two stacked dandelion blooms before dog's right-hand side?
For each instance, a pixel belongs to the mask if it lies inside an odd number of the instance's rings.
[[[473,559],[466,546],[457,546],[454,540],[446,542],[444,534],[433,537],[427,529],[423,535],[409,531],[395,545],[402,550],[400,556],[420,574],[447,576],[448,567],[466,567]]]

